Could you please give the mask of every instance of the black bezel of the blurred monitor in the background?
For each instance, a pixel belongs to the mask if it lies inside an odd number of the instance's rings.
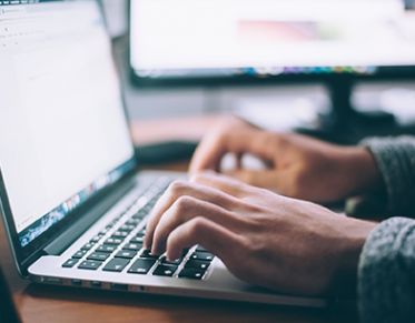
[[[278,74],[278,75],[253,75],[253,74],[229,74],[220,77],[140,77],[137,74],[131,60],[131,48],[134,46],[131,33],[132,1],[128,2],[128,62],[131,82],[140,88],[184,88],[184,87],[243,87],[243,85],[269,85],[269,84],[290,84],[290,83],[330,83],[338,79],[353,79],[355,81],[388,81],[388,80],[413,80],[415,79],[414,65],[391,65],[377,67],[370,74],[335,72],[335,73],[298,73],[298,74]]]

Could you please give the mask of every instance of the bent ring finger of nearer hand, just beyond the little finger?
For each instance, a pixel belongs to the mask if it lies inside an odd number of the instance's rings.
[[[201,216],[233,231],[240,231],[245,226],[246,219],[237,216],[209,202],[190,196],[179,198],[174,205],[162,214],[154,233],[151,253],[161,254],[166,248],[168,235],[179,225]]]

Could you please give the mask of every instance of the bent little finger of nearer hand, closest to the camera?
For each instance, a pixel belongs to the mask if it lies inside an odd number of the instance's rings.
[[[194,218],[176,228],[167,240],[167,258],[178,259],[186,248],[200,244],[225,263],[234,261],[243,249],[243,238],[205,218]]]

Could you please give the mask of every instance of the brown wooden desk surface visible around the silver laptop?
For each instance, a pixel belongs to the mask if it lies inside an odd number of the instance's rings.
[[[207,119],[191,120],[192,129],[198,129],[198,131],[194,131],[190,137],[197,139],[218,119],[213,118],[208,122]],[[179,124],[182,121],[177,122]],[[170,124],[175,128],[168,121],[160,122],[160,124]],[[205,128],[201,127],[202,124]],[[134,123],[132,132],[136,141],[150,142],[152,138],[147,131],[154,127],[157,127],[157,122]],[[186,133],[178,134],[180,138],[182,135],[186,137]],[[158,139],[162,139],[162,135]],[[164,169],[186,169],[186,164],[165,165]],[[2,225],[0,225],[0,261],[23,322],[354,322],[353,319],[332,314],[327,310],[287,309],[30,284],[17,273]]]

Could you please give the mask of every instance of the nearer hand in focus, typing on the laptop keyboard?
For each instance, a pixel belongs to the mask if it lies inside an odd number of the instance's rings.
[[[214,173],[176,182],[149,219],[145,246],[178,259],[200,244],[237,277],[279,292],[320,295],[344,275],[375,224]]]

